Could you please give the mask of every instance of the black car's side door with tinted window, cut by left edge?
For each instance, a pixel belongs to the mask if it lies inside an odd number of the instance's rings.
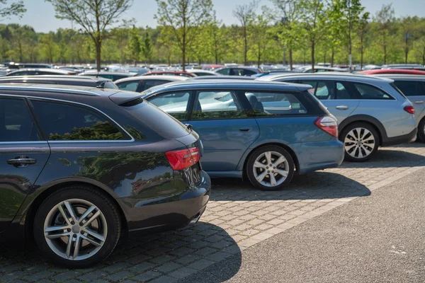
[[[49,156],[26,100],[0,95],[0,232],[15,218]]]

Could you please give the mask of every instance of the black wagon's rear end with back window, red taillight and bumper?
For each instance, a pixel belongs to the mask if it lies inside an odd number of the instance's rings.
[[[136,127],[149,127],[159,137],[159,141],[147,137],[136,141],[140,147],[136,145],[135,151],[151,151],[155,158],[149,162],[156,166],[132,183],[131,195],[121,199],[131,219],[129,230],[164,231],[196,224],[211,190],[210,177],[200,164],[203,144],[198,134],[134,93],[118,92],[110,98]],[[137,139],[137,134],[132,136]]]

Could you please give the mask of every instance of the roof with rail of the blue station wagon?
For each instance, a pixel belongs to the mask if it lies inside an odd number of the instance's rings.
[[[187,89],[250,89],[262,91],[306,91],[311,87],[305,84],[298,83],[281,83],[281,82],[266,82],[266,81],[241,81],[241,80],[188,80],[174,83],[165,83],[161,86],[154,86],[147,90],[147,95],[158,91],[180,91]]]

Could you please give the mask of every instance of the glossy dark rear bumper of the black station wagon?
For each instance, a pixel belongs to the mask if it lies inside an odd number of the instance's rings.
[[[132,200],[128,207],[127,198],[120,199],[125,206],[128,219],[128,231],[146,231],[153,233],[179,229],[202,216],[210,200],[211,180],[205,171],[200,171],[200,182],[188,187],[176,195],[169,195],[156,200]]]

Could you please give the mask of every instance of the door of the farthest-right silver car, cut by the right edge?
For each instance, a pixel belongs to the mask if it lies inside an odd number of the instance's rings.
[[[404,93],[404,96],[412,101],[416,120],[421,120],[425,115],[425,83],[423,81],[395,79],[394,84]]]

